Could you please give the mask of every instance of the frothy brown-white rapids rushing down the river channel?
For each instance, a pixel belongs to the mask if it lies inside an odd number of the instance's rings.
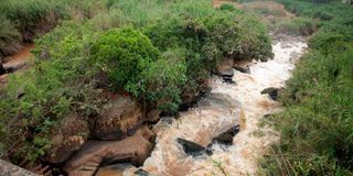
[[[211,95],[223,97],[224,101],[181,112],[178,120],[160,128],[156,147],[142,168],[156,176],[255,175],[257,161],[278,139],[276,132],[259,128],[258,123],[265,114],[280,110],[278,102],[260,91],[285,87],[295,63],[307,47],[302,40],[281,40],[272,45],[274,59],[247,63],[250,74],[235,70],[236,84],[223,82],[214,76]],[[233,145],[213,145],[211,156],[188,156],[175,140],[182,138],[205,146],[212,138],[236,124],[240,125],[240,132],[234,136]]]

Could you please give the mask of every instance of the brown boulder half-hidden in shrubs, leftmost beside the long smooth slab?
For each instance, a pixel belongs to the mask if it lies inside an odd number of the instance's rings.
[[[87,140],[89,135],[88,122],[77,114],[71,114],[53,128],[52,145],[45,156],[50,163],[63,163]]]

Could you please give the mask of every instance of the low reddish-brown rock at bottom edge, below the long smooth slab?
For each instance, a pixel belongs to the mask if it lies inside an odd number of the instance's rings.
[[[133,167],[130,163],[108,165],[100,167],[95,176],[124,176],[124,172],[130,167]]]

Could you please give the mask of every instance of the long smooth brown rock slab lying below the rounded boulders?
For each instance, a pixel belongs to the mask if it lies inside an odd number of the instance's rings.
[[[99,165],[132,163],[142,165],[150,155],[152,144],[141,134],[122,141],[87,141],[65,164],[71,176],[94,174]]]

